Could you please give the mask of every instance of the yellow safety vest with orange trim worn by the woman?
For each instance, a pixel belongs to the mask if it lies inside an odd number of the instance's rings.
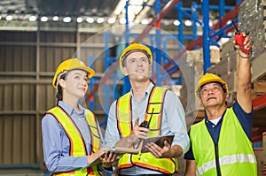
[[[61,107],[57,106],[52,108],[50,111],[46,113],[50,113],[55,117],[59,124],[63,127],[69,142],[70,149],[69,155],[74,157],[88,156],[85,142],[83,141],[82,134],[80,133],[77,126],[75,126],[74,121],[68,116],[66,111],[64,111]],[[85,109],[85,118],[90,127],[90,137],[91,137],[91,151],[95,153],[100,148],[100,136],[98,131],[97,119],[94,114]],[[97,165],[90,166],[88,168],[84,168],[82,170],[75,170],[69,172],[54,172],[52,175],[64,175],[64,176],[84,176],[84,175],[101,175],[98,172]]]

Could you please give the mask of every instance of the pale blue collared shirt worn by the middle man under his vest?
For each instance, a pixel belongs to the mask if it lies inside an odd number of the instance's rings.
[[[139,118],[139,124],[145,120],[145,111],[148,104],[149,95],[153,88],[153,83],[150,84],[145,92],[144,99],[138,103],[137,100],[132,97],[132,126],[134,126],[135,121]],[[132,90],[131,90],[132,95]],[[112,103],[108,122],[106,127],[105,140],[106,145],[109,147],[114,146],[115,142],[121,140],[117,127],[117,119],[115,116],[116,101]],[[179,145],[183,149],[183,154],[190,147],[190,140],[187,134],[186,123],[184,119],[184,108],[180,103],[179,98],[172,91],[168,91],[164,104],[163,104],[163,114],[161,117],[161,135],[175,134],[173,145]],[[155,172],[142,167],[134,166],[129,169],[122,169],[121,174],[137,175],[137,174],[161,174],[161,172]]]

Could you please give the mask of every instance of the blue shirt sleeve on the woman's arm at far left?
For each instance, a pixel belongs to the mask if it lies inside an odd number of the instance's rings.
[[[43,117],[42,134],[44,163],[50,172],[78,170],[88,165],[87,156],[73,157],[66,154],[70,147],[68,139],[62,137],[66,134],[51,114]]]

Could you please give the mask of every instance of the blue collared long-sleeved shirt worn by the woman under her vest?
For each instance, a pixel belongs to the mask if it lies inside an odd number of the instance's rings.
[[[78,127],[85,142],[88,155],[91,150],[90,127],[85,119],[85,111],[79,104],[81,113],[77,113],[74,108],[59,101],[59,106],[66,111],[75,125]],[[98,122],[97,122],[98,123]],[[99,126],[98,126],[98,129]],[[69,156],[70,142],[60,126],[57,119],[51,114],[46,114],[42,120],[43,132],[43,157],[44,163],[50,172],[66,172],[85,168],[88,165],[87,156]],[[101,146],[103,146],[103,135],[100,133]]]

